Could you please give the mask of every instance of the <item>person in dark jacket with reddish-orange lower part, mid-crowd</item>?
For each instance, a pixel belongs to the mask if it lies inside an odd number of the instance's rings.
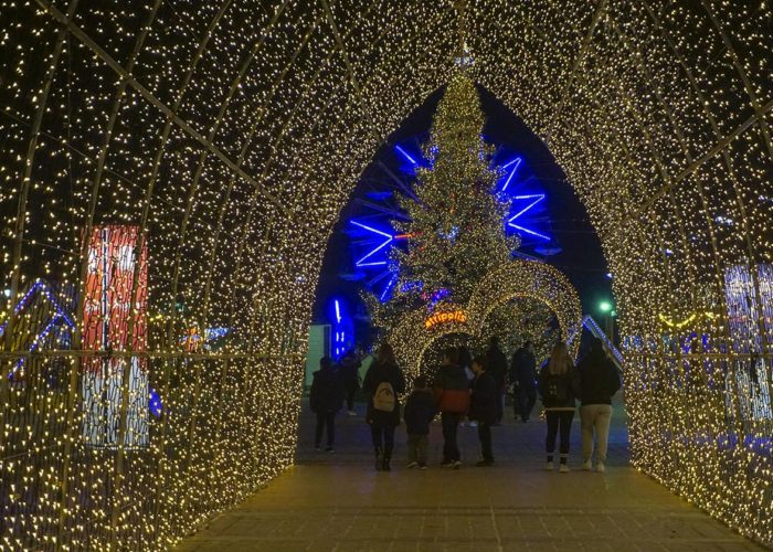
[[[462,466],[456,435],[459,421],[469,410],[469,382],[464,369],[458,365],[458,350],[454,347],[443,352],[443,362],[433,385],[435,404],[441,412],[443,425],[444,467],[458,469]]]

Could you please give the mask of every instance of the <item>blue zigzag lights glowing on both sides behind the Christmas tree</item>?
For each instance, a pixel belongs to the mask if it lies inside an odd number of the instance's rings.
[[[378,187],[359,201],[362,209],[349,220],[347,233],[351,236],[356,273],[347,274],[347,279],[360,279],[381,302],[389,301],[398,282],[398,267],[390,262],[393,247],[404,247],[407,235],[398,234],[393,221],[405,221],[407,215],[395,206],[394,194],[413,198],[416,185],[416,171],[432,169],[424,158],[419,138],[393,145],[393,162],[400,168],[393,171],[384,162],[379,167]],[[523,156],[499,148],[491,158],[491,166],[501,172],[496,194],[511,201],[510,212],[504,221],[508,233],[520,237],[520,247],[513,256],[541,261],[541,257],[559,253],[550,232],[548,216],[548,194],[539,180],[529,171]],[[402,178],[401,176],[402,174]],[[373,179],[374,180],[374,179]],[[452,230],[444,237],[454,240]],[[335,350],[335,348],[333,348]]]

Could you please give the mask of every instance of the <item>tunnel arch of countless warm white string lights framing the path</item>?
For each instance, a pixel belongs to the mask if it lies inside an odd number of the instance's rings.
[[[293,461],[324,244],[375,149],[448,81],[459,30],[472,76],[546,141],[601,237],[632,461],[773,542],[770,4],[459,6],[0,0],[3,370],[31,347],[14,336],[38,319],[13,306],[34,278],[72,291],[76,328],[25,381],[0,376],[0,458],[25,468],[0,476],[11,548],[162,548]],[[109,223],[137,229],[125,258],[148,247],[147,342],[120,350],[81,330],[82,236]],[[191,327],[232,338],[190,351]],[[145,448],[85,440],[83,368],[105,358],[141,360],[163,401]],[[118,442],[144,400],[133,373],[110,406]]]

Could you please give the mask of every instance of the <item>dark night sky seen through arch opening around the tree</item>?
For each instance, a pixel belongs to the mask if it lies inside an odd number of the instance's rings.
[[[544,257],[544,259],[562,270],[580,294],[583,311],[601,319],[599,302],[612,299],[611,280],[607,278],[606,261],[602,253],[601,243],[591,226],[584,205],[575,195],[566,177],[557,164],[546,145],[501,102],[484,88],[478,88],[481,105],[486,115],[484,134],[487,141],[501,145],[523,157],[523,162],[533,176],[540,180],[548,193],[548,210],[552,219],[552,234],[562,252]],[[372,163],[382,160],[394,164],[393,145],[410,140],[417,135],[426,135],[444,88],[433,93],[416,110],[414,110],[382,146]],[[371,163],[371,166],[372,166]],[[348,301],[353,314],[361,306],[358,297],[359,283],[340,277],[352,272],[352,254],[349,247],[349,236],[342,231],[349,217],[357,210],[356,201],[362,198],[371,185],[368,185],[369,170],[354,189],[352,197],[341,211],[333,233],[328,242],[322,269],[319,277],[317,298],[314,307],[314,321],[324,322],[329,318],[326,311],[332,297],[342,297]],[[384,184],[382,188],[389,188]],[[359,320],[358,341],[363,340],[367,325]]]

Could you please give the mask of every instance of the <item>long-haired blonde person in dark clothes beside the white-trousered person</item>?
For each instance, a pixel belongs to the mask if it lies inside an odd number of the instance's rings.
[[[560,433],[559,452],[561,455],[559,470],[569,471],[569,434],[574,418],[574,402],[580,386],[578,370],[569,355],[566,343],[559,342],[553,347],[548,364],[540,372],[539,391],[548,421],[546,452],[548,453],[547,469],[553,469],[555,436]]]

